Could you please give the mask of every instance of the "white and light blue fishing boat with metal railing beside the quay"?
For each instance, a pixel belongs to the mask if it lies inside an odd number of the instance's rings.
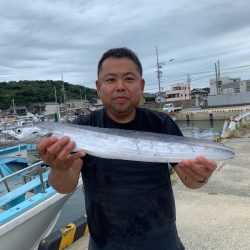
[[[0,249],[36,249],[49,235],[71,194],[48,184],[50,169],[28,164],[27,145],[0,150]],[[16,150],[16,151],[15,151]],[[19,153],[18,153],[19,152]],[[22,152],[22,156],[20,154]],[[78,188],[82,186],[80,181]]]

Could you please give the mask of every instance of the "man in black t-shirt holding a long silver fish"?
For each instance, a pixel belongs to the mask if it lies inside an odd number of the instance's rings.
[[[134,52],[127,48],[108,50],[99,61],[96,81],[104,109],[79,116],[74,123],[181,136],[168,115],[137,107],[144,84]],[[74,147],[70,138],[51,137],[37,148],[51,167],[49,182],[59,192],[72,192],[82,174],[89,249],[184,249],[176,230],[167,164],[101,159],[85,152],[71,154]],[[202,187],[216,168],[202,156],[173,165],[189,188]]]

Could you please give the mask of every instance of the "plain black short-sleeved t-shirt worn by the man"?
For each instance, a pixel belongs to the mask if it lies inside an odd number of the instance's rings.
[[[114,122],[105,109],[79,116],[73,123],[182,135],[168,115],[143,108],[137,108],[135,119],[126,124]],[[167,164],[91,155],[83,160],[88,226],[100,249],[183,249]]]

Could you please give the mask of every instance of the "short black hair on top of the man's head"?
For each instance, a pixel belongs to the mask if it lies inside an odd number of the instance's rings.
[[[108,51],[106,51],[102,55],[102,57],[98,63],[97,76],[99,76],[99,74],[101,72],[103,61],[106,60],[107,58],[110,58],[110,57],[118,58],[118,59],[125,57],[125,58],[132,60],[136,64],[136,66],[138,68],[138,72],[142,76],[142,66],[141,66],[141,62],[140,62],[138,56],[131,49],[128,49],[126,47],[113,48],[113,49],[109,49]]]

